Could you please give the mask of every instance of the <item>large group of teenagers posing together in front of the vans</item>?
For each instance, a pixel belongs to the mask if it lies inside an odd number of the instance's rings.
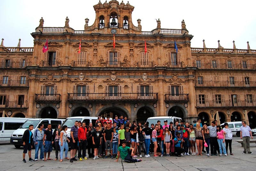
[[[33,125],[30,125],[28,130],[23,135],[23,162],[25,154],[28,151],[29,160],[38,160],[38,152],[40,149],[40,159],[47,161],[52,160],[50,153],[52,146],[55,146],[55,159],[58,160],[58,153],[60,151],[60,162],[63,161],[63,153],[65,149],[64,159],[74,162],[82,161],[88,158],[93,160],[102,158],[116,158],[116,161],[121,157],[127,162],[140,162],[137,155],[142,157],[142,150],[144,157],[150,157],[150,153],[154,153],[154,157],[166,155],[183,156],[183,155],[201,155],[206,152],[206,156],[216,156],[217,151],[221,156],[227,156],[226,148],[229,146],[230,155],[232,153],[232,132],[228,128],[228,124],[224,124],[225,128],[221,128],[214,120],[211,126],[201,124],[201,120],[192,125],[182,120],[180,123],[176,121],[175,124],[171,121],[164,120],[164,125],[158,120],[156,124],[146,122],[142,125],[140,122],[132,123],[123,118],[121,115],[115,119],[110,120],[109,117],[98,117],[93,127],[92,123],[86,126],[85,122],[75,121],[74,126],[71,127],[70,137],[68,137],[66,125],[52,131],[51,124],[40,124],[33,136],[31,130]],[[241,135],[242,136],[242,135]],[[68,142],[70,143],[70,158],[68,158]],[[35,145],[35,160],[31,158],[32,144]],[[196,153],[197,146],[197,153]],[[204,151],[204,147],[206,151]],[[88,156],[86,155],[88,149]],[[108,155],[108,149],[110,154]],[[158,150],[159,149],[159,150]],[[76,153],[78,151],[78,159]],[[158,152],[159,151],[159,152]],[[46,157],[46,154],[48,156]],[[248,151],[250,152],[250,150]]]

